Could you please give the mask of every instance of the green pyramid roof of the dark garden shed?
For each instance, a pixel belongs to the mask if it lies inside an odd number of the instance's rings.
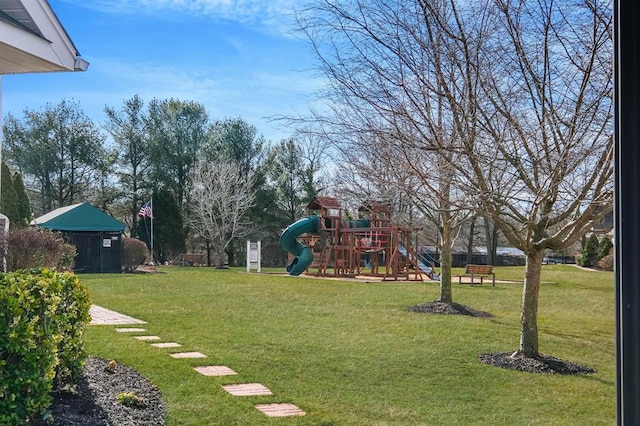
[[[31,225],[56,231],[124,231],[124,223],[115,220],[89,203],[60,207],[33,219]]]

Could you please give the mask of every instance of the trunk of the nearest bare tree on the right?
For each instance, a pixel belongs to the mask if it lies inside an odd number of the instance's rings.
[[[536,358],[538,352],[538,296],[544,251],[527,253],[520,317],[520,347],[512,357]]]

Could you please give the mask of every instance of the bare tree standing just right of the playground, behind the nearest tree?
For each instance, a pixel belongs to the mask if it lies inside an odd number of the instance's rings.
[[[313,112],[317,131],[358,181],[408,195],[437,229],[440,300],[451,303],[453,244],[470,214],[453,147],[461,131],[475,131],[457,124],[475,125],[464,117],[477,90],[456,58],[459,46],[415,1],[320,0],[298,22],[330,82],[321,93],[327,108]],[[450,93],[459,108],[448,108]]]

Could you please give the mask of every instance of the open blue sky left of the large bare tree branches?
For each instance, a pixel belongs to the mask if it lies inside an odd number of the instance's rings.
[[[49,0],[86,72],[7,75],[3,114],[74,100],[96,125],[104,106],[138,94],[197,101],[211,118],[242,117],[272,142],[270,117],[305,113],[322,83],[294,34],[293,0]]]

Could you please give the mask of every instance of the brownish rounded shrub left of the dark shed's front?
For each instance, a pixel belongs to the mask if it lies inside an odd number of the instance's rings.
[[[7,271],[31,268],[70,267],[75,247],[66,245],[60,236],[42,228],[20,228],[7,237]],[[70,246],[70,247],[68,247]],[[73,247],[73,256],[71,256]],[[69,257],[71,256],[71,260]]]

